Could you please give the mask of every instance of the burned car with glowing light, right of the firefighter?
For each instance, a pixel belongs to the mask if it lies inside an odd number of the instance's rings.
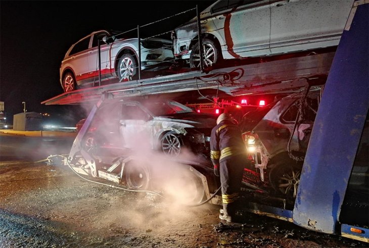
[[[294,199],[310,133],[320,102],[320,88],[281,98],[243,117],[243,138],[255,170],[278,193]],[[264,178],[265,177],[265,178]]]

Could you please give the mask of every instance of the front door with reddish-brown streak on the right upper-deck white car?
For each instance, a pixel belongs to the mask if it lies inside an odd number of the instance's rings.
[[[220,1],[211,9],[212,21],[234,58],[270,53],[269,0]]]

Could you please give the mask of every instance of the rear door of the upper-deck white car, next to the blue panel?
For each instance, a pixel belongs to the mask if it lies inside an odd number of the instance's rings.
[[[271,0],[273,54],[338,45],[353,0]]]

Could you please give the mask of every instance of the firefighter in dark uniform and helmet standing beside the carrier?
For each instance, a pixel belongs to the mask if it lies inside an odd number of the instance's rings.
[[[210,158],[214,174],[220,176],[223,209],[220,209],[219,218],[233,222],[247,161],[245,143],[237,121],[231,115],[219,115],[216,124],[211,130]]]

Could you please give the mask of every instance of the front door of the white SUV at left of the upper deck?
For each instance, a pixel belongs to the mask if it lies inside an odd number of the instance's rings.
[[[88,67],[89,74],[96,85],[99,85],[99,47],[98,40],[100,39],[100,58],[101,58],[101,77],[102,79],[109,78],[112,76],[111,71],[111,58],[109,49],[111,44],[106,44],[102,38],[107,35],[108,32],[101,31],[93,34],[91,48],[88,50]]]

